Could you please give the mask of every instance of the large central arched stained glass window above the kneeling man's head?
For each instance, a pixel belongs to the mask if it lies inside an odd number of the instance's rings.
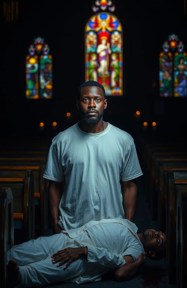
[[[107,96],[123,95],[122,25],[112,1],[95,2],[85,26],[85,81],[101,83]],[[98,12],[101,10],[102,12]]]

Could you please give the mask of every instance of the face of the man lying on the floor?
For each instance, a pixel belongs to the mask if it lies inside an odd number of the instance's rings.
[[[166,247],[166,236],[161,231],[146,229],[143,232],[143,246],[146,250],[162,251]]]

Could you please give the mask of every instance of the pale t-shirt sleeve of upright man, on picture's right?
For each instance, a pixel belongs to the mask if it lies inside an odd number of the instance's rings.
[[[129,181],[141,175],[143,175],[143,173],[140,168],[136,147],[133,140],[127,154],[125,155],[124,168],[121,173],[121,179],[122,181]]]

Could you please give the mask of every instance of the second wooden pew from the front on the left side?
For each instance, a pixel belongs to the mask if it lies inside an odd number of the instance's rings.
[[[0,188],[10,187],[13,194],[14,242],[20,244],[34,239],[34,179],[32,170],[26,170],[25,178],[0,178]],[[22,239],[20,238],[22,229]],[[20,242],[20,243],[16,243]]]

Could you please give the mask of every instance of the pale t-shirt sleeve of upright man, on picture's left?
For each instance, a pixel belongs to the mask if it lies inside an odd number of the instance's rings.
[[[52,142],[43,174],[44,178],[54,181],[63,181],[64,173],[60,162],[60,153]]]

